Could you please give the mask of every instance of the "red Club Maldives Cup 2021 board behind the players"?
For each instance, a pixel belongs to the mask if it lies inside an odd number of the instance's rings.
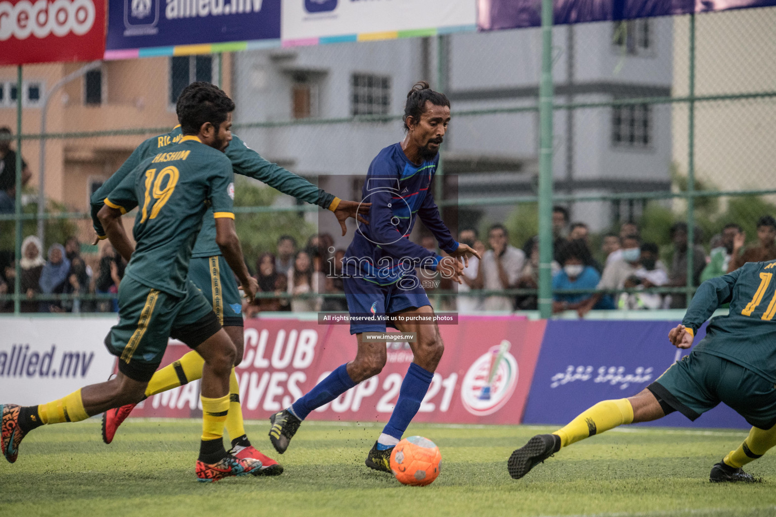
[[[440,326],[445,354],[417,422],[520,422],[545,322],[517,316],[466,317]],[[504,345],[504,341],[508,345]],[[308,416],[316,420],[387,421],[412,361],[408,343],[389,343],[383,371]],[[164,364],[189,349],[171,345]],[[246,419],[266,419],[339,365],[355,357],[347,325],[294,319],[248,320],[245,354],[237,367]],[[491,374],[492,372],[492,374]],[[484,392],[484,395],[483,395]],[[133,416],[201,415],[199,381],[148,398]]]

